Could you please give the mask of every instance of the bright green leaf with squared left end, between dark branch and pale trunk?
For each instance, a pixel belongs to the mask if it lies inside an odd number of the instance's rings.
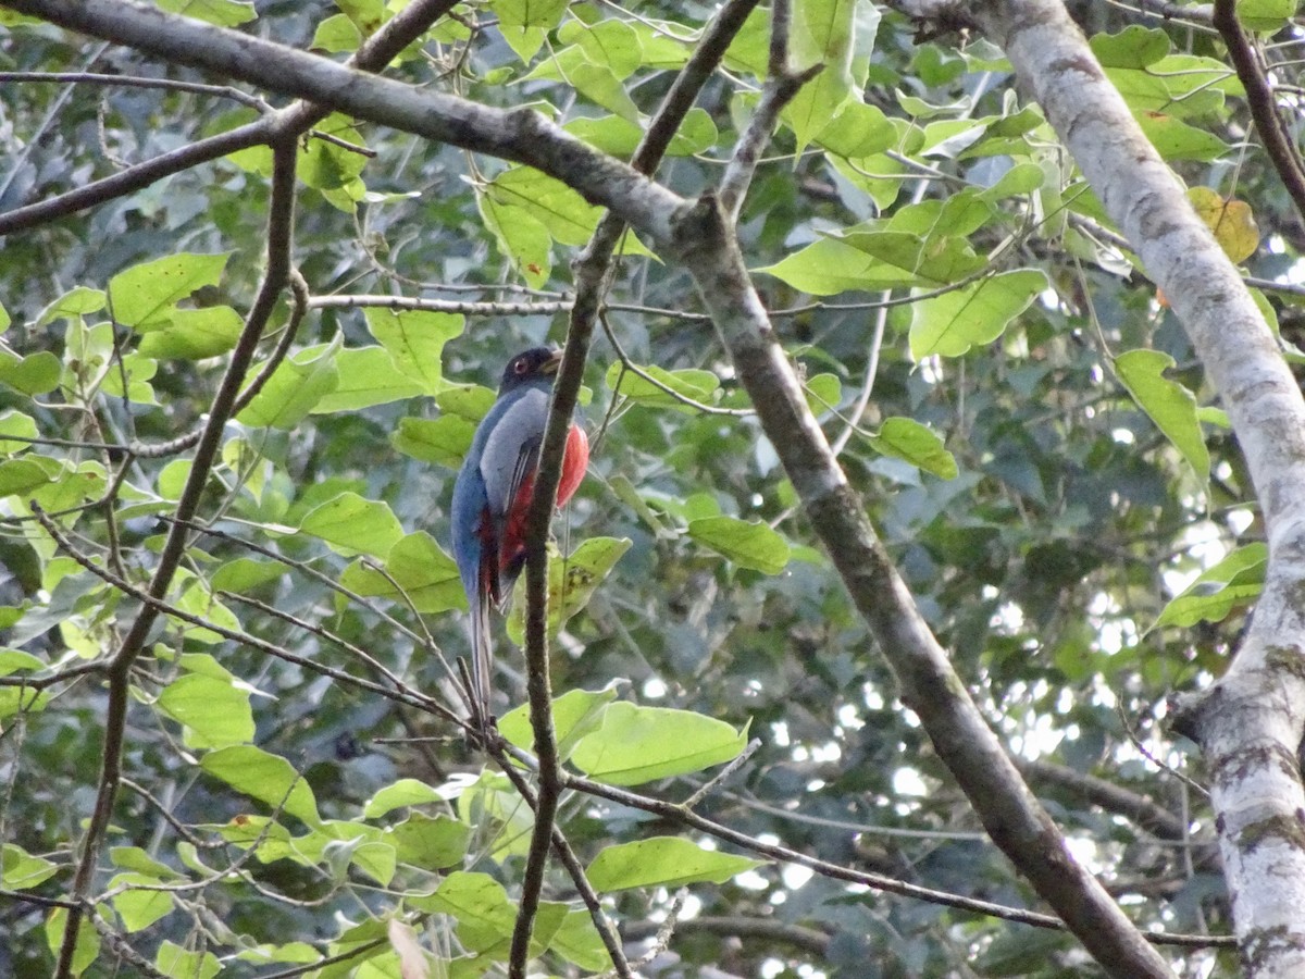
[[[911,356],[960,356],[990,343],[1048,288],[1034,269],[1004,272],[911,307]]]

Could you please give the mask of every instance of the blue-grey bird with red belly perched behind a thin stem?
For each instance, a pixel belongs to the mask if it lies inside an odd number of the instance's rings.
[[[561,351],[531,347],[502,371],[499,397],[476,427],[453,484],[453,557],[467,593],[471,625],[472,719],[489,723],[489,610],[502,611],[526,564],[526,514]],[[589,466],[589,436],[572,422],[562,454],[557,506],[579,487]]]

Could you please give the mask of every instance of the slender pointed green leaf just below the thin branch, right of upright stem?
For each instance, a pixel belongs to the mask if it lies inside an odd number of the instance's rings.
[[[589,882],[600,892],[630,888],[679,888],[706,881],[724,884],[765,862],[703,850],[680,837],[652,837],[619,843],[603,850],[585,869]]]

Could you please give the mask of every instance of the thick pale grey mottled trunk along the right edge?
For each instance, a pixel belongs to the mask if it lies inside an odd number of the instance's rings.
[[[1244,958],[1305,970],[1305,399],[1255,303],[1064,7],[974,5],[1182,321],[1263,510],[1265,590],[1237,658],[1177,723],[1201,743]],[[1242,52],[1245,54],[1245,52]],[[1267,141],[1271,138],[1262,132]]]

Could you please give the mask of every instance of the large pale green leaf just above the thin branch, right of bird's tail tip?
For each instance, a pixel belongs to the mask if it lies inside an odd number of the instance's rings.
[[[637,786],[731,761],[746,744],[748,732],[723,721],[619,701],[603,714],[603,726],[579,740],[572,761],[600,782]]]

